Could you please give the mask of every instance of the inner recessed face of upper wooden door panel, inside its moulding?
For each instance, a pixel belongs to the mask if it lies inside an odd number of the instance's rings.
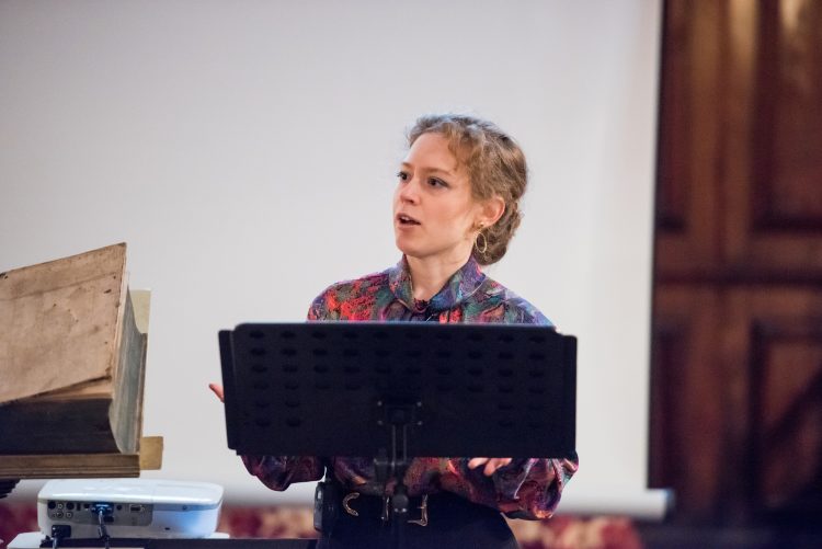
[[[757,230],[822,229],[822,3],[764,2],[754,124]]]

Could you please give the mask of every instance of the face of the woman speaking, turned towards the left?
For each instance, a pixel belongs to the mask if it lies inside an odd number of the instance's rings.
[[[471,196],[466,168],[439,134],[421,135],[402,161],[393,193],[397,248],[421,260],[466,261],[482,204]]]

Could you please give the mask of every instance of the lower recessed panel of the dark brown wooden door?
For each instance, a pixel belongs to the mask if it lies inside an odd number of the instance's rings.
[[[754,511],[788,522],[818,517],[822,512],[822,316],[758,320],[751,339]]]

